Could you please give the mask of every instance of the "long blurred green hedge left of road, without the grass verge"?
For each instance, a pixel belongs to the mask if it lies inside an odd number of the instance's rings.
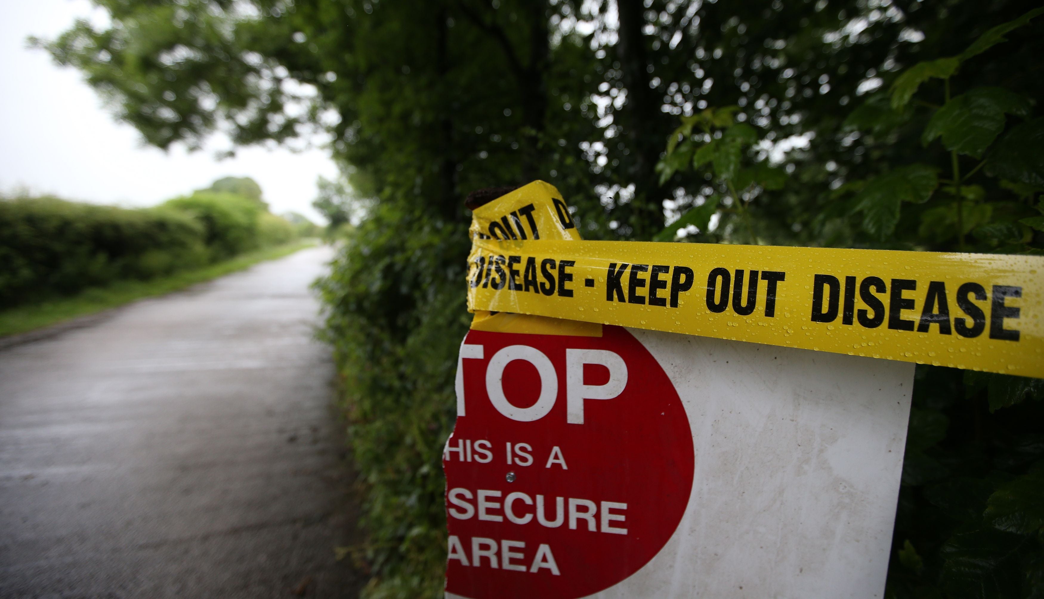
[[[254,200],[196,192],[151,209],[0,198],[0,306],[147,280],[295,237]]]

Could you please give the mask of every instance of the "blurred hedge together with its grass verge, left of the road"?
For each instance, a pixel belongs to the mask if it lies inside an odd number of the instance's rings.
[[[230,189],[236,183],[245,189]],[[313,243],[302,238],[318,227],[295,220],[269,213],[256,183],[232,177],[148,209],[0,197],[0,336],[182,289]]]

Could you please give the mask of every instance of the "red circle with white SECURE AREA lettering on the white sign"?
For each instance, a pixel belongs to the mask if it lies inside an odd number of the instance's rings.
[[[616,584],[670,538],[692,433],[667,375],[627,331],[469,332],[447,441],[446,591],[571,599]]]

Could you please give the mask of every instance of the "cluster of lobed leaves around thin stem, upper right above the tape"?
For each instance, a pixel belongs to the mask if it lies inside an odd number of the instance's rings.
[[[941,106],[932,106],[924,102],[930,111],[930,117],[921,134],[923,146],[930,146],[936,139],[949,150],[949,160],[943,164],[950,167],[948,181],[940,181],[933,166],[915,164],[893,169],[891,172],[878,175],[869,181],[853,181],[849,189],[861,188],[853,199],[852,212],[861,212],[862,229],[879,240],[892,237],[899,223],[902,201],[924,205],[921,210],[921,226],[916,241],[934,243],[957,239],[957,248],[970,249],[966,236],[971,233],[975,237],[974,249],[994,250],[1000,248],[1006,253],[1038,253],[1039,243],[1034,243],[1033,229],[1021,222],[1023,219],[1039,217],[1040,213],[1034,206],[1034,193],[1023,197],[1015,194],[991,194],[987,196],[986,186],[991,183],[1003,188],[1000,183],[991,182],[989,175],[996,174],[996,169],[987,169],[979,175],[979,183],[972,183],[972,177],[980,171],[988,161],[996,163],[994,155],[980,160],[991,148],[994,153],[1036,154],[1036,146],[1029,145],[1033,140],[1022,136],[1026,126],[1031,123],[1016,125],[1004,138],[1002,144],[995,145],[998,136],[1007,124],[1006,116],[1026,118],[1030,115],[1033,101],[1012,90],[977,86],[965,93],[951,97],[951,78],[957,76],[958,69],[973,56],[990,50],[1004,41],[1003,34],[1027,24],[1034,17],[1044,14],[1044,8],[1037,8],[1022,17],[997,25],[982,33],[964,52],[956,56],[922,62],[903,71],[892,85],[892,107],[903,109],[916,97],[920,86],[929,78],[943,80],[943,100]],[[942,66],[941,66],[942,65]],[[920,115],[918,112],[906,112],[911,120]],[[889,121],[901,120],[898,114],[884,116]],[[1009,141],[1010,138],[1012,141]],[[1027,143],[1028,142],[1028,143]],[[969,157],[978,162],[976,166],[962,174],[960,157]],[[1024,162],[1024,161],[1023,161]],[[1012,161],[1003,164],[1016,181],[1028,179],[1044,175],[1044,170],[1034,165],[1023,165],[1023,168],[1012,168]],[[1038,165],[1039,166],[1039,165]],[[934,195],[940,184],[944,185],[944,194]],[[1026,184],[1024,184],[1026,185]],[[1033,184],[1028,184],[1033,185]],[[841,191],[840,189],[838,191]],[[1044,187],[1037,189],[1044,191]],[[1006,196],[1006,197],[1005,197]],[[1021,200],[1021,201],[1020,201]],[[955,235],[954,235],[955,234]],[[920,239],[918,239],[920,238]]]

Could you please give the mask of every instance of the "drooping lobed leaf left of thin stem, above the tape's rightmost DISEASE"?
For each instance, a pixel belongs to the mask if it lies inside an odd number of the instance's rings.
[[[869,181],[855,196],[855,211],[862,212],[862,227],[871,235],[885,239],[899,222],[902,201],[924,203],[939,187],[935,170],[914,164],[893,169]]]

